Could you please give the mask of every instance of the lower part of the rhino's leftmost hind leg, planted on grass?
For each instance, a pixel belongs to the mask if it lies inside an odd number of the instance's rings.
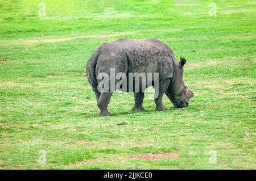
[[[108,111],[108,105],[112,94],[113,92],[102,92],[100,94],[100,98],[97,102],[98,108],[100,108],[101,110],[100,116],[110,116],[110,113]]]

